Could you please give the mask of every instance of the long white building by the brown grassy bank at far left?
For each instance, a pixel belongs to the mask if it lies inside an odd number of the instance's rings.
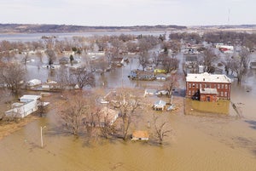
[[[38,110],[38,100],[40,99],[40,95],[23,95],[19,99],[20,102],[14,103],[12,109],[4,113],[7,117],[26,117]]]

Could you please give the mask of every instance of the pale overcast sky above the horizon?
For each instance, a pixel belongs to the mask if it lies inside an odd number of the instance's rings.
[[[2,24],[215,26],[256,24],[255,0],[1,0]]]

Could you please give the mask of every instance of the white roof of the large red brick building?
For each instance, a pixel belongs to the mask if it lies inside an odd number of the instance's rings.
[[[224,74],[188,74],[186,82],[206,82],[206,83],[231,83],[231,79]]]

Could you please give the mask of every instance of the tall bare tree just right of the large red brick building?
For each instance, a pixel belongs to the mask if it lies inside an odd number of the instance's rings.
[[[236,73],[237,83],[241,84],[242,77],[247,73],[247,68],[250,62],[250,52],[247,48],[241,48],[237,56],[233,57],[231,61],[231,70]]]

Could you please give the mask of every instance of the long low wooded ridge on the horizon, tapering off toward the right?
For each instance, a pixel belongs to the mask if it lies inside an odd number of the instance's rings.
[[[0,24],[0,32],[15,33],[42,33],[42,32],[83,32],[83,31],[157,31],[181,30],[186,26],[71,26],[71,25],[26,25],[26,24]]]

